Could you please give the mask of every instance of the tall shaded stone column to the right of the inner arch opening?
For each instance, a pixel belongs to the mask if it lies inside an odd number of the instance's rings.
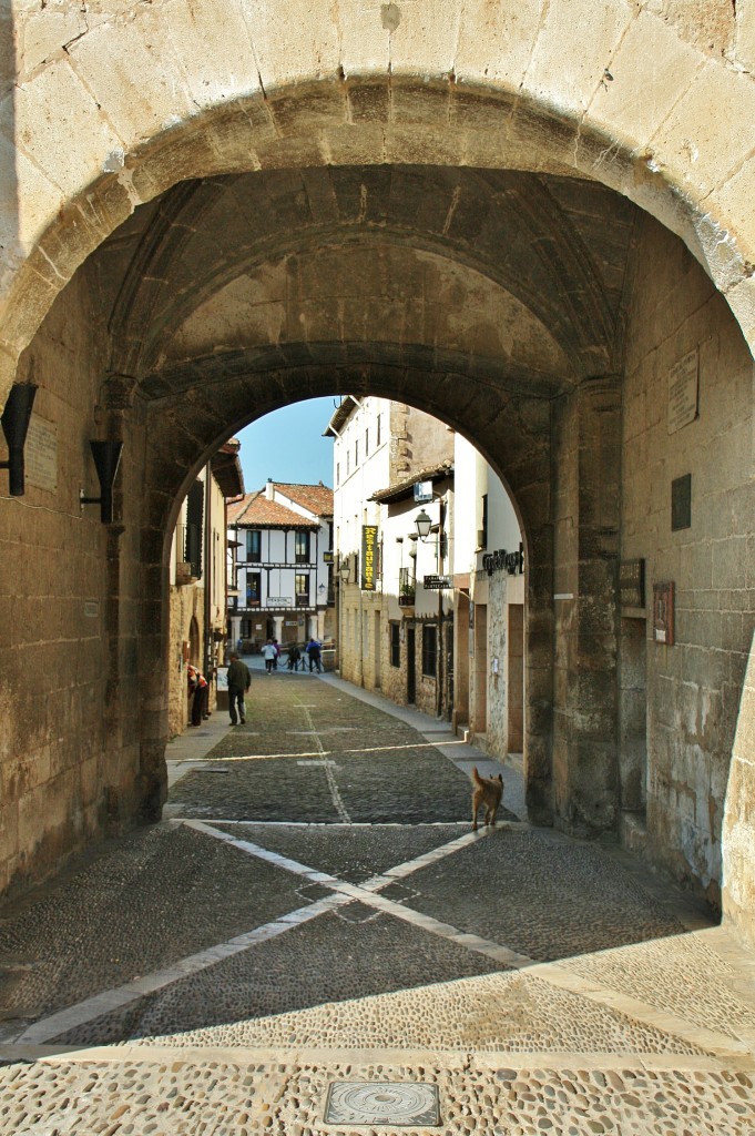
[[[556,824],[595,836],[619,815],[616,578],[621,386],[589,378],[555,426]]]

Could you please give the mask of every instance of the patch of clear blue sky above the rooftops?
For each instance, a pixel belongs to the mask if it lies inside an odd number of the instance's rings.
[[[274,482],[300,482],[333,488],[333,438],[322,437],[338,395],[295,402],[258,418],[236,435],[241,441],[244,487],[248,493]]]

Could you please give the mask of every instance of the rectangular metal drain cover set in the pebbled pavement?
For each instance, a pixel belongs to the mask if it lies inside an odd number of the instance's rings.
[[[334,1081],[325,1106],[326,1125],[439,1125],[436,1085],[393,1081]]]

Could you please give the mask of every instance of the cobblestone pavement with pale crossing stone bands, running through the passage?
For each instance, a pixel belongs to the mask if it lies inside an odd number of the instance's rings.
[[[755,1136],[755,960],[672,885],[333,676],[224,718],[161,825],[0,912],[2,1136]]]

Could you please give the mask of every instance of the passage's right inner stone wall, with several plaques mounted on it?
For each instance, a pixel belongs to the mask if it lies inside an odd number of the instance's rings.
[[[655,859],[718,903],[753,629],[753,362],[711,282],[649,219],[637,250],[627,343],[621,557],[646,562],[648,841]],[[698,417],[670,433],[669,374],[690,352],[699,359]],[[671,485],[688,474],[691,524],[673,531]],[[673,646],[653,632],[653,585],[664,580],[676,584]],[[744,792],[739,777],[736,793]],[[745,862],[733,861],[731,871],[735,894]]]

